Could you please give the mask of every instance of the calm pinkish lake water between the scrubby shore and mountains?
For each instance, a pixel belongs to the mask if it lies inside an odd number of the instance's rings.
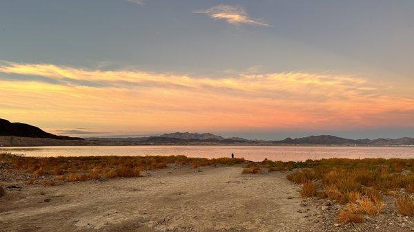
[[[321,158],[414,158],[414,147],[280,147],[280,146],[62,146],[1,147],[25,156],[171,156],[230,157],[262,161]]]

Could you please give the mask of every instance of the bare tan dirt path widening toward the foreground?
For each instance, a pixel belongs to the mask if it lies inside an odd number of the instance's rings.
[[[284,173],[251,176],[242,175],[242,167],[179,167],[148,174],[10,191],[0,199],[0,231],[310,231],[315,226],[316,210],[301,206],[298,187]]]

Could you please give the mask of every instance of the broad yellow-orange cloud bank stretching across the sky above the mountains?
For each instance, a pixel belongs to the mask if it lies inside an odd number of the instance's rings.
[[[391,90],[364,78],[304,72],[200,78],[0,65],[4,118],[114,134],[414,126],[414,100]]]

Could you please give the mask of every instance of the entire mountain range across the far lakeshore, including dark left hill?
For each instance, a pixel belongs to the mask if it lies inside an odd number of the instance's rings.
[[[6,139],[7,137],[7,139]],[[10,143],[12,138],[14,143]],[[249,140],[239,137],[224,138],[211,133],[189,133],[175,132],[161,134],[159,136],[139,137],[139,138],[77,138],[68,136],[57,136],[43,131],[39,127],[34,127],[25,123],[10,123],[8,120],[0,118],[0,145],[21,145],[25,141],[21,138],[33,138],[30,145],[36,145],[35,138],[41,140],[41,145],[55,145],[55,140],[77,140],[79,145],[343,145],[343,146],[408,146],[414,145],[414,138],[377,138],[374,140],[340,138],[331,135],[308,136],[303,138],[285,138],[284,140]],[[52,140],[44,140],[52,139]],[[8,141],[8,143],[2,141]],[[21,141],[16,143],[16,141]],[[61,145],[64,141],[59,142]],[[73,142],[68,142],[68,145]]]

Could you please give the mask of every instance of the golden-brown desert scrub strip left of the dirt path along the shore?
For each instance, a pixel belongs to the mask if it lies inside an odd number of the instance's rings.
[[[36,158],[0,154],[0,162],[14,169],[30,173],[28,184],[48,177],[43,186],[53,186],[59,181],[86,181],[105,178],[130,178],[140,172],[163,169],[168,165],[190,165],[193,168],[206,165],[235,165],[246,162],[243,158],[188,158],[186,156],[86,156]]]

